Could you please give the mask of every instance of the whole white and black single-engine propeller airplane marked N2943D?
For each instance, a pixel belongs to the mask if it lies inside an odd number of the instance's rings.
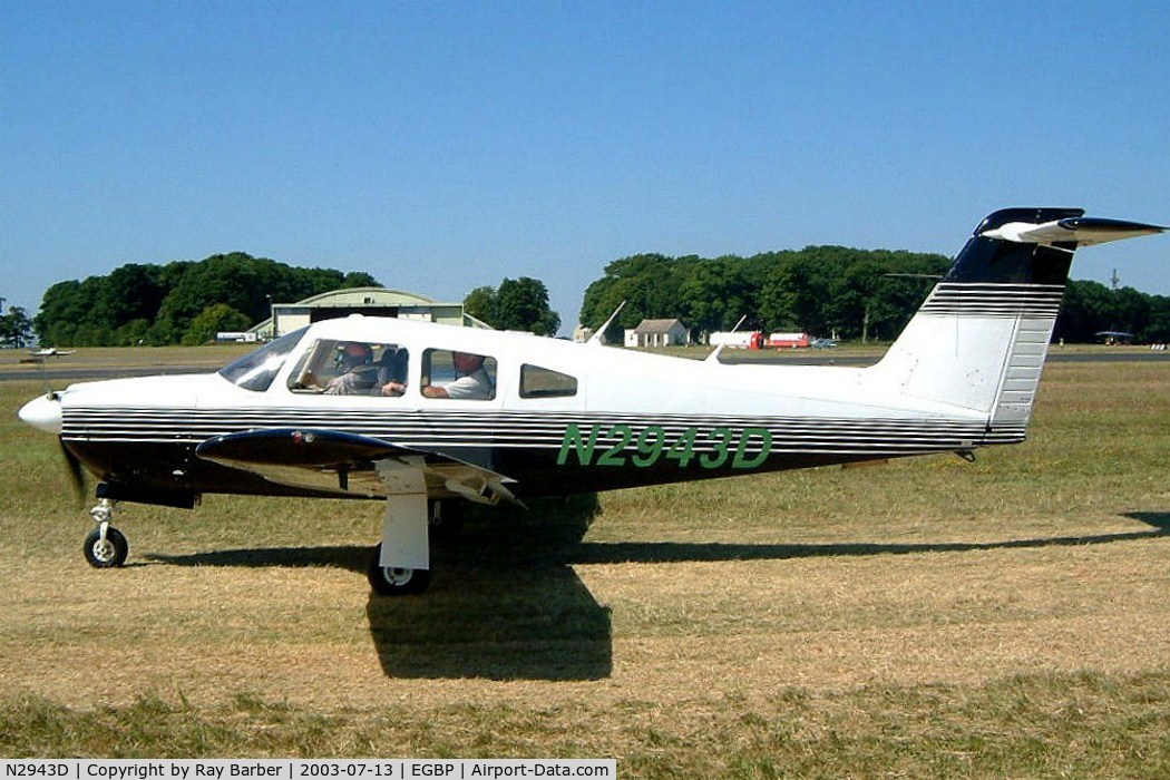
[[[431,579],[448,501],[521,503],[1024,441],[1073,251],[1166,228],[1013,208],[987,216],[876,365],[722,365],[351,316],[218,373],[73,385],[20,417],[94,474],[92,566],[121,566],[115,502],[205,492],[381,498],[383,594]]]

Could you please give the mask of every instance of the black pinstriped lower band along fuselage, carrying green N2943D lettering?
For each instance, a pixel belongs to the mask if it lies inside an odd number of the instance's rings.
[[[517,495],[571,493],[1023,441],[979,421],[586,413],[68,409],[62,440],[104,479],[192,492],[312,495],[194,455],[213,436],[328,428],[473,462]]]

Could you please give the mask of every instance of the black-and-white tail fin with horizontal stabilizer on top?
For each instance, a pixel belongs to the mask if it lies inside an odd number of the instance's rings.
[[[873,371],[903,396],[986,414],[1005,441],[1023,440],[1073,253],[1165,229],[1079,208],[998,210]]]

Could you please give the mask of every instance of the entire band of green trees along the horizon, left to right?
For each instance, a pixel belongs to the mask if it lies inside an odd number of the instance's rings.
[[[832,246],[751,257],[640,254],[605,267],[585,291],[579,322],[599,327],[625,301],[607,333],[611,343],[642,319],[677,317],[701,339],[730,330],[742,316],[744,330],[889,340],[950,264],[937,254]],[[380,284],[365,272],[295,268],[243,253],[126,264],[106,276],[54,284],[33,319],[11,308],[0,315],[0,341],[22,346],[32,330],[47,346],[202,344],[219,331],[266,319],[273,302],[355,287]],[[467,313],[497,329],[551,336],[560,325],[544,283],[530,277],[476,288],[463,303]],[[1170,297],[1071,281],[1053,338],[1094,341],[1100,331],[1170,341]]]

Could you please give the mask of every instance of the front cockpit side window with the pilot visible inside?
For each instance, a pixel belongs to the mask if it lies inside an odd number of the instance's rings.
[[[401,395],[410,353],[397,344],[318,339],[289,374],[294,393]]]

